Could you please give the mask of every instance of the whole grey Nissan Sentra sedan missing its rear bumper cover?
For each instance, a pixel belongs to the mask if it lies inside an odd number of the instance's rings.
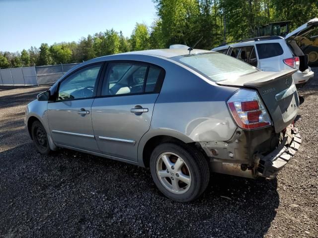
[[[294,72],[204,50],[106,56],[39,94],[25,125],[42,154],[69,148],[150,167],[164,195],[188,202],[210,172],[274,178],[296,153]]]

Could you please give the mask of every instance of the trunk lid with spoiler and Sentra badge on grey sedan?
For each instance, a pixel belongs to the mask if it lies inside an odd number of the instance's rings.
[[[222,86],[252,88],[258,91],[271,116],[276,133],[286,128],[297,116],[299,98],[292,74],[297,70],[282,72],[259,71],[237,79],[216,82]]]

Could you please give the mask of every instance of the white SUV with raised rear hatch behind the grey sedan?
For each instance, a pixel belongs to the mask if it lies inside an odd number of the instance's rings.
[[[318,18],[314,18],[293,32],[280,36],[265,36],[225,43],[212,49],[219,53],[233,56],[263,71],[285,71],[298,69],[293,74],[295,84],[303,85],[314,77],[308,66],[308,56],[297,45],[295,37],[308,34],[318,26]]]

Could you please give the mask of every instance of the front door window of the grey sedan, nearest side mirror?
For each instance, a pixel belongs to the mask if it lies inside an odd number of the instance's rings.
[[[60,83],[57,101],[93,97],[102,64],[95,64],[71,74]]]

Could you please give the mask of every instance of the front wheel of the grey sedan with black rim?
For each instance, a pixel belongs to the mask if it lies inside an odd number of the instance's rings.
[[[40,121],[35,120],[32,123],[31,127],[32,139],[35,143],[36,148],[38,151],[43,155],[48,155],[51,152],[48,135],[44,126],[41,124]]]

